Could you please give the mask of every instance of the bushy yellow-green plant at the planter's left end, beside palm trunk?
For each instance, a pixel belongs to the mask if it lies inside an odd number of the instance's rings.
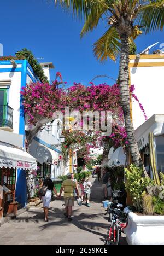
[[[134,206],[142,212],[142,194],[146,191],[148,185],[154,185],[154,182],[149,177],[142,177],[143,170],[134,164],[130,165],[130,170],[125,170],[125,188],[130,192]]]

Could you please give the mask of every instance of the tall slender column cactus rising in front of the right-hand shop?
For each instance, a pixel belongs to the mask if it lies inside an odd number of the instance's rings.
[[[156,168],[156,158],[155,158],[155,150],[154,150],[154,138],[153,132],[149,134],[149,147],[150,147],[150,162],[151,162],[151,169],[153,171],[153,178],[155,185],[160,186],[160,179],[159,174]]]

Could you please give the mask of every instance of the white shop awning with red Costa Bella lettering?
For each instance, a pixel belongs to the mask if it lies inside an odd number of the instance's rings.
[[[37,170],[37,162],[27,152],[9,144],[0,143],[0,167]]]

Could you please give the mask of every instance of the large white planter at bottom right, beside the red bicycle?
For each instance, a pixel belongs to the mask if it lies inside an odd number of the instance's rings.
[[[128,245],[164,245],[164,216],[137,215],[129,210],[125,228]]]

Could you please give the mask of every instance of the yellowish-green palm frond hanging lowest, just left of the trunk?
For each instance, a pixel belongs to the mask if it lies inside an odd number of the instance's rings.
[[[119,34],[114,26],[111,26],[107,32],[93,44],[93,53],[101,62],[106,61],[108,57],[115,61],[119,51]]]

